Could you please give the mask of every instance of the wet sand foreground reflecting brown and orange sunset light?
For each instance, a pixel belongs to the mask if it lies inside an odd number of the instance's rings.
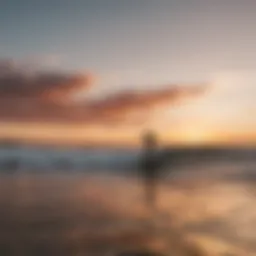
[[[255,255],[255,188],[214,173],[184,171],[162,182],[154,232],[135,178],[3,175],[0,255]]]

